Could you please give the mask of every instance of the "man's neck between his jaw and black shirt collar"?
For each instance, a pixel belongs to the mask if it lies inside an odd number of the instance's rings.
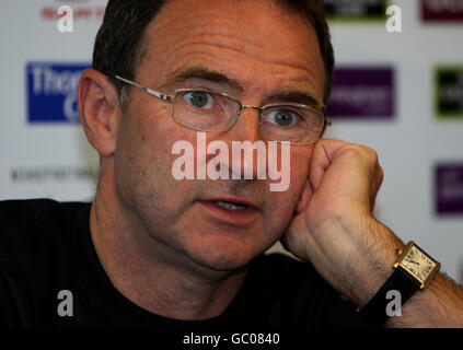
[[[117,195],[114,173],[102,166],[90,215],[96,254],[113,285],[140,307],[170,318],[220,315],[236,295],[246,269],[199,266],[150,236]]]

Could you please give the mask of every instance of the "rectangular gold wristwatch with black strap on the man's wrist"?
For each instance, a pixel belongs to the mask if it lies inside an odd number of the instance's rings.
[[[398,260],[392,266],[394,272],[368,304],[358,308],[375,326],[384,325],[390,317],[386,312],[386,305],[391,302],[387,298],[390,291],[400,292],[404,304],[417,290],[428,287],[440,269],[440,264],[413,241],[407,243],[403,252],[397,250],[397,254]]]

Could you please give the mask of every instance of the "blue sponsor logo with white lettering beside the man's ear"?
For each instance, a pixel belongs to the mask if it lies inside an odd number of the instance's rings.
[[[77,88],[88,63],[28,62],[27,121],[79,122]]]

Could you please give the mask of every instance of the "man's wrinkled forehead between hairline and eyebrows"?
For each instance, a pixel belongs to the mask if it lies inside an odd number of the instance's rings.
[[[312,25],[273,1],[167,1],[147,27],[143,46],[137,75],[158,86],[174,71],[202,66],[245,88],[304,85],[322,97],[324,69]]]

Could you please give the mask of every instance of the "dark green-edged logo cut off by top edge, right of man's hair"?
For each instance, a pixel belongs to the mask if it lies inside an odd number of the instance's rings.
[[[325,11],[331,20],[384,21],[389,0],[325,0]]]

